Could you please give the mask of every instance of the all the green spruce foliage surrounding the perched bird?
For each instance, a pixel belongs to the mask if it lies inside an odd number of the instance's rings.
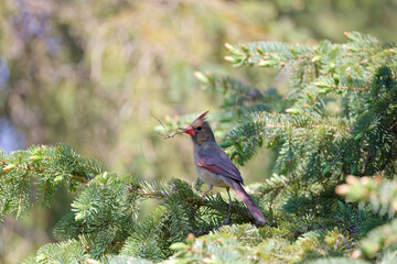
[[[24,263],[395,263],[396,46],[345,35],[345,44],[225,45],[235,66],[287,70],[282,101],[271,90],[195,74],[224,99],[213,117],[229,156],[244,166],[260,147],[273,152],[273,175],[247,187],[269,226],[253,226],[236,199],[228,212],[225,194],[203,200],[200,180],[148,182],[66,145],[32,146],[1,153],[1,217],[51,205],[61,186],[76,198],[54,230],[61,242]],[[160,204],[141,219],[148,199]]]

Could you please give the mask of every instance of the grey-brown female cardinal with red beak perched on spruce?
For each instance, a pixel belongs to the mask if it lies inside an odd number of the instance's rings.
[[[248,207],[257,223],[267,222],[259,208],[243,188],[244,180],[238,168],[216,143],[210,123],[204,119],[207,112],[200,116],[191,125],[183,130],[193,140],[194,165],[198,176],[210,186],[210,189],[202,197],[212,190],[214,186],[217,186],[225,187],[230,199],[229,188],[233,188]]]

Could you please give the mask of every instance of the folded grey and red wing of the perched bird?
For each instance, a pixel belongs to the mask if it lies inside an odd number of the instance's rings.
[[[230,158],[222,151],[221,153],[198,153],[196,165],[210,172],[232,178],[243,184],[242,175]]]

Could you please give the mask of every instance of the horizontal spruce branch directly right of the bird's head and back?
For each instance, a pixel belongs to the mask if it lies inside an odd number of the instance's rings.
[[[283,142],[287,139],[303,138],[310,140],[316,134],[323,134],[326,131],[334,136],[348,134],[351,128],[344,120],[321,119],[320,117],[311,117],[305,111],[298,109],[287,109],[287,114],[270,114],[267,112],[253,112],[248,116],[248,120],[240,127],[230,130],[225,138],[223,145],[234,145],[230,158],[236,158],[243,165],[245,161],[250,158],[256,147],[261,146],[264,138],[272,140],[270,144]],[[315,133],[313,133],[315,129]],[[293,131],[287,135],[287,133]],[[282,138],[281,138],[282,136]]]

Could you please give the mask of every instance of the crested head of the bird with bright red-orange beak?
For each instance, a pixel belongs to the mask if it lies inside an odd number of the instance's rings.
[[[207,141],[215,141],[214,133],[210,123],[205,120],[208,111],[202,113],[187,128],[183,130],[184,133],[190,134],[194,143],[201,144]]]

